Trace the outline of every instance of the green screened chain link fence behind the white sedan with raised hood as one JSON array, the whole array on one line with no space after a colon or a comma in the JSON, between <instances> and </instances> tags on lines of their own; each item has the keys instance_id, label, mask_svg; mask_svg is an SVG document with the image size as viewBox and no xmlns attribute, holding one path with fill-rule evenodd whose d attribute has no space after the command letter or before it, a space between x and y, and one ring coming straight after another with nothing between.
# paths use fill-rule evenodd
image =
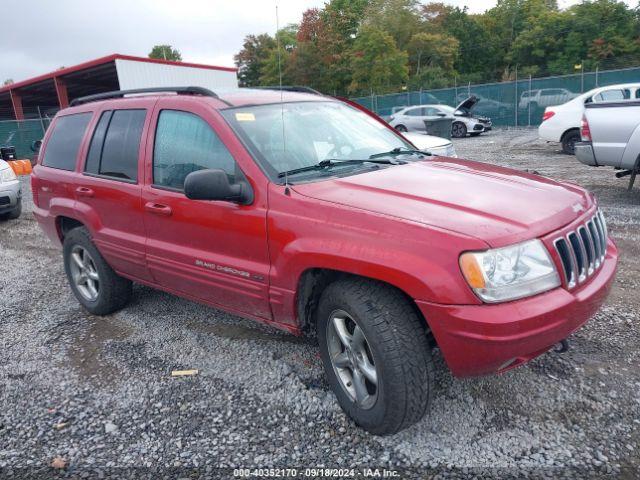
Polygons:
<instances>
[{"instance_id":1,"label":"green screened chain link fence behind the white sedan with raised hood","mask_svg":"<svg viewBox=\"0 0 640 480\"><path fill-rule=\"evenodd\" d=\"M516 76L517 78L517 76ZM474 114L490 117L495 126L537 126L546 107L566 103L596 87L640 82L640 67L581 72L545 78L517 78L516 81L478 85L455 85L451 88L370 95L352 98L360 105L388 117L412 105L459 105L471 95L479 102Z\"/></svg>"}]
</instances>

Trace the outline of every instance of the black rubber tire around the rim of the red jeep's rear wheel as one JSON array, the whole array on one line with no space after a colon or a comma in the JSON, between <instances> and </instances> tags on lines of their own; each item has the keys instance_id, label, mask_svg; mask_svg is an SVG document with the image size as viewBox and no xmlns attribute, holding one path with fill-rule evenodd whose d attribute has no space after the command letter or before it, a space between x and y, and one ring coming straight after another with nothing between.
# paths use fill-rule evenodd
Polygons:
<instances>
[{"instance_id":1,"label":"black rubber tire around the rim of the red jeep's rear wheel","mask_svg":"<svg viewBox=\"0 0 640 480\"><path fill-rule=\"evenodd\" d=\"M71 262L74 249L84 249L99 276L97 298L89 300L81 293L72 273ZM64 237L63 242L64 269L73 294L90 313L108 315L123 308L131 299L132 283L122 278L107 264L98 249L91 241L91 235L85 227L74 228Z\"/></svg>"}]
</instances>

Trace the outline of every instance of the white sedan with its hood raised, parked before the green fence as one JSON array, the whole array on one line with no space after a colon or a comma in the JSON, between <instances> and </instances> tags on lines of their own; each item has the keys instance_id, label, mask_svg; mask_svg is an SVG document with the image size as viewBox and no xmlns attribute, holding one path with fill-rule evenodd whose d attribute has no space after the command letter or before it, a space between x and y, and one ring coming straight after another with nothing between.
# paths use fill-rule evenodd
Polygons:
<instances>
[{"instance_id":1,"label":"white sedan with its hood raised, parked before the green fence","mask_svg":"<svg viewBox=\"0 0 640 480\"><path fill-rule=\"evenodd\" d=\"M428 118L451 118L451 135L455 138L480 135L491 130L491 119L475 117L471 113L478 97L471 96L456 108L448 105L414 105L405 107L389 117L389 125L399 132L424 132L424 121Z\"/></svg>"}]
</instances>

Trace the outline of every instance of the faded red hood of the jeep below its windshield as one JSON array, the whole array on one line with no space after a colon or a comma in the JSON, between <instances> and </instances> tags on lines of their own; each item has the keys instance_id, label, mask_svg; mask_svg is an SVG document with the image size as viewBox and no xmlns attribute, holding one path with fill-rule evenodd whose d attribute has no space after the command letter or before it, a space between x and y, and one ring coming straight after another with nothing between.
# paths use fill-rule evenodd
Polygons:
<instances>
[{"instance_id":1,"label":"faded red hood of the jeep below its windshield","mask_svg":"<svg viewBox=\"0 0 640 480\"><path fill-rule=\"evenodd\" d=\"M593 205L582 188L488 164L436 157L296 185L318 200L455 231L501 247L543 236Z\"/></svg>"}]
</instances>

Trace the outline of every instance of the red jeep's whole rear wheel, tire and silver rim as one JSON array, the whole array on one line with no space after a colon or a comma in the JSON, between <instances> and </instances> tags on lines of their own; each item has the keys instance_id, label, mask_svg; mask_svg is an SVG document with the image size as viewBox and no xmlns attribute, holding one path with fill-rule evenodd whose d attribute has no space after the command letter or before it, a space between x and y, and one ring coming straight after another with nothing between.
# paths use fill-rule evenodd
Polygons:
<instances>
[{"instance_id":1,"label":"red jeep's whole rear wheel, tire and silver rim","mask_svg":"<svg viewBox=\"0 0 640 480\"><path fill-rule=\"evenodd\" d=\"M71 290L89 312L108 315L131 298L131 281L107 264L86 228L74 228L64 238L64 268Z\"/></svg>"}]
</instances>

